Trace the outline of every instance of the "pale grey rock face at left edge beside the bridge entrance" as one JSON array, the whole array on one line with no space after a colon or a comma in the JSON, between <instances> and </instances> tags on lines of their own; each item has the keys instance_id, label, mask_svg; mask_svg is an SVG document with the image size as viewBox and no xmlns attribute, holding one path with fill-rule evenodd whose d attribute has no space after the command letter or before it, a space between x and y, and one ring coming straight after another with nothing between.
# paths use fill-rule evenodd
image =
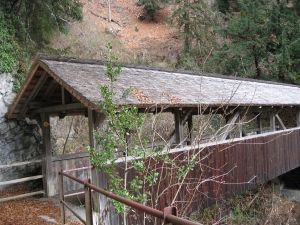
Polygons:
<instances>
[{"instance_id":1,"label":"pale grey rock face at left edge beside the bridge entrance","mask_svg":"<svg viewBox=\"0 0 300 225\"><path fill-rule=\"evenodd\" d=\"M0 73L0 166L41 158L42 152L41 132L35 121L5 118L16 96L12 87L11 74ZM37 174L41 174L40 163L0 169L0 182Z\"/></svg>"}]
</instances>

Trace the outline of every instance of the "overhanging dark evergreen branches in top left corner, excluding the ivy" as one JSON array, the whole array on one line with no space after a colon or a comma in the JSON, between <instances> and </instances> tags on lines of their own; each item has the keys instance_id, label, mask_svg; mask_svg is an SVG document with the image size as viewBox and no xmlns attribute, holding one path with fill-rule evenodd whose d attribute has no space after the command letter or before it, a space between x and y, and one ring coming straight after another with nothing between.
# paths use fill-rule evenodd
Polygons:
<instances>
[{"instance_id":1,"label":"overhanging dark evergreen branches in top left corner, excluding the ivy","mask_svg":"<svg viewBox=\"0 0 300 225\"><path fill-rule=\"evenodd\" d=\"M79 0L0 0L4 19L14 26L19 44L40 49L54 32L67 32L69 20L82 19Z\"/></svg>"}]
</instances>

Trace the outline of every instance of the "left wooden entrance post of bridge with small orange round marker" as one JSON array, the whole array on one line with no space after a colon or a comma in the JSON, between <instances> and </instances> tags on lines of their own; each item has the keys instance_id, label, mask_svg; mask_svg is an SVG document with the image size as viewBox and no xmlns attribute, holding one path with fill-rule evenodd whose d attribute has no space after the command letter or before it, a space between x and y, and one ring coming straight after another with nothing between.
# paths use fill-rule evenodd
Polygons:
<instances>
[{"instance_id":1,"label":"left wooden entrance post of bridge with small orange round marker","mask_svg":"<svg viewBox=\"0 0 300 225\"><path fill-rule=\"evenodd\" d=\"M53 184L53 165L49 113L41 114L41 126L43 132L43 185L45 190L45 196L50 197L55 194L55 190Z\"/></svg>"}]
</instances>

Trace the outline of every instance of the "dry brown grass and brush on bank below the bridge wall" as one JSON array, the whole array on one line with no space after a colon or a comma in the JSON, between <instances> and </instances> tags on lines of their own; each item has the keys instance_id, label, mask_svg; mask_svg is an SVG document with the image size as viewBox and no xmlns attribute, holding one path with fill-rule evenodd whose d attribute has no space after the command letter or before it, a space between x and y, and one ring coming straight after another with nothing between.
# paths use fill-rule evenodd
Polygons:
<instances>
[{"instance_id":1,"label":"dry brown grass and brush on bank below the bridge wall","mask_svg":"<svg viewBox=\"0 0 300 225\"><path fill-rule=\"evenodd\" d=\"M203 224L300 224L300 203L280 197L268 183L205 209L194 217Z\"/></svg>"}]
</instances>

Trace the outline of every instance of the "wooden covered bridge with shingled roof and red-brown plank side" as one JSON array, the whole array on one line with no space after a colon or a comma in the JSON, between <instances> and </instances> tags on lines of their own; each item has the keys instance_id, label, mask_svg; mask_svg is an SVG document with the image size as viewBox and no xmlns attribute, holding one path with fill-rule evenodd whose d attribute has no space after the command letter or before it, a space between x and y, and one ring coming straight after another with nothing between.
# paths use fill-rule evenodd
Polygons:
<instances>
[{"instance_id":1,"label":"wooden covered bridge with shingled roof and red-brown plank side","mask_svg":"<svg viewBox=\"0 0 300 225\"><path fill-rule=\"evenodd\" d=\"M98 104L99 86L109 84L105 71L101 61L40 56L7 113L9 119L29 117L40 124L46 196L57 194L60 168L89 165L88 153L53 157L49 117L88 117L90 145L95 146L93 130L105 120ZM202 163L209 165L205 173L211 178L201 183L204 205L242 193L300 166L298 86L123 66L115 90L121 95L130 86L132 94L120 105L136 106L141 113L173 113L175 129L169 140L173 158L180 154L185 157L190 150L202 151ZM208 138L191 132L196 127L193 117L212 114L224 118L222 129ZM199 170L204 171L201 166ZM192 171L189 176L198 176L198 172ZM70 190L75 188L70 183L67 186ZM165 196L159 201L170 204Z\"/></svg>"}]
</instances>

